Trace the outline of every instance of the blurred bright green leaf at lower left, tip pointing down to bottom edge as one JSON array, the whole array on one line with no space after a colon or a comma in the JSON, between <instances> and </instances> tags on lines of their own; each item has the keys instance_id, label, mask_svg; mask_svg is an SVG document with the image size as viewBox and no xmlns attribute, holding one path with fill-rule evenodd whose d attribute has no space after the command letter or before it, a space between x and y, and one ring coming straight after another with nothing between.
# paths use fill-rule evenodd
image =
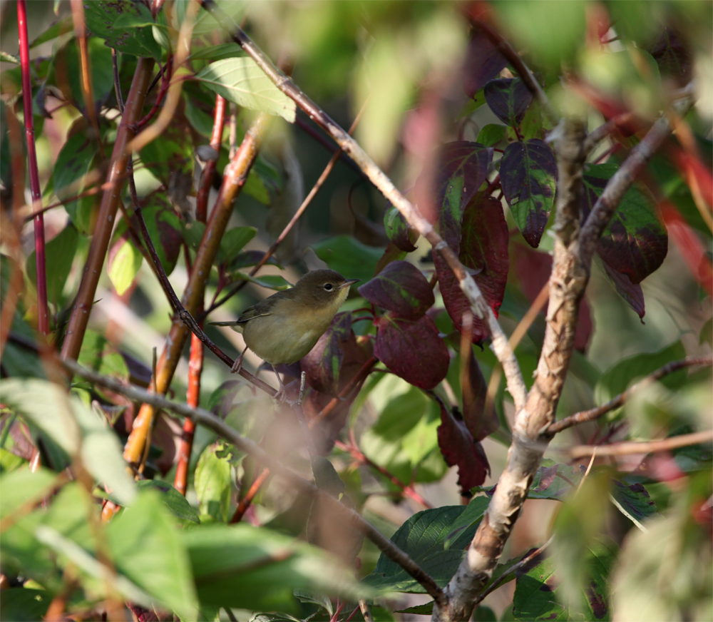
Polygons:
<instances>
[{"instance_id":1,"label":"blurred bright green leaf at lower left, tip pointing down to bottom edge","mask_svg":"<svg viewBox=\"0 0 713 622\"><path fill-rule=\"evenodd\" d=\"M143 491L106 529L116 570L184 620L198 601L185 544L160 495Z\"/></svg>"}]
</instances>

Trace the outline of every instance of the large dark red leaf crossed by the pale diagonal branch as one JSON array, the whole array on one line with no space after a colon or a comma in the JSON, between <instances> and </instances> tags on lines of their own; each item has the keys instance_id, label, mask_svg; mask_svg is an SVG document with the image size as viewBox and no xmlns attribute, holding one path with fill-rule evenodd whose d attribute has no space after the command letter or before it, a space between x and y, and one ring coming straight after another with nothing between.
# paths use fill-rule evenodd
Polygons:
<instances>
[{"instance_id":1,"label":"large dark red leaf crossed by the pale diagonal branch","mask_svg":"<svg viewBox=\"0 0 713 622\"><path fill-rule=\"evenodd\" d=\"M463 214L459 258L471 272L496 315L508 280L508 238L508 225L500 202L481 195L473 198ZM434 255L434 265L446 311L456 328L461 330L463 312L470 310L468 299L463 295L451 268L438 253ZM481 343L487 336L483 321L473 317L473 342Z\"/></svg>"}]
</instances>

